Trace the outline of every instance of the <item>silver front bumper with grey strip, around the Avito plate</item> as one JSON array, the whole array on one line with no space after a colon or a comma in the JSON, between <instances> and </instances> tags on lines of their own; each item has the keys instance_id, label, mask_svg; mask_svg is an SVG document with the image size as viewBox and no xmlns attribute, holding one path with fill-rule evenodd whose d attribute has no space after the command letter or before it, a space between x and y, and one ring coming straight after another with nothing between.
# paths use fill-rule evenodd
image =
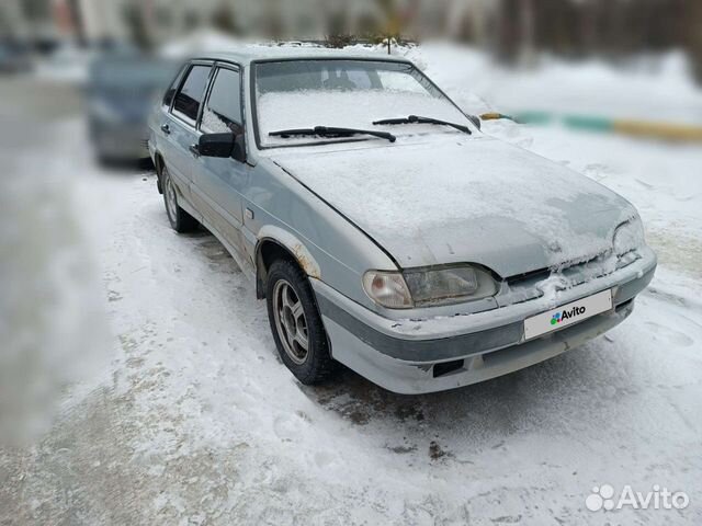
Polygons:
<instances>
[{"instance_id":1,"label":"silver front bumper with grey strip, around the Avito plate","mask_svg":"<svg viewBox=\"0 0 702 526\"><path fill-rule=\"evenodd\" d=\"M621 323L653 279L650 249L624 268L544 297L467 316L390 320L312 279L335 359L385 389L422 393L453 389L529 367ZM524 341L524 319L612 289L613 308Z\"/></svg>"}]
</instances>

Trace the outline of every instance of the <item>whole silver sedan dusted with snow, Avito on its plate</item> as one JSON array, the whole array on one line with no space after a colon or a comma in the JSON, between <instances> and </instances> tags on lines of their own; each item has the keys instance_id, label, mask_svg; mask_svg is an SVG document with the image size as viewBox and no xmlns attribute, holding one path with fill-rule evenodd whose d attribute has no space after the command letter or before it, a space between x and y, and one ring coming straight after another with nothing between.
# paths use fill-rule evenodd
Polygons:
<instances>
[{"instance_id":1,"label":"whole silver sedan dusted with snow, Avito on its plate","mask_svg":"<svg viewBox=\"0 0 702 526\"><path fill-rule=\"evenodd\" d=\"M403 393L503 375L622 322L656 268L630 203L404 59L203 56L149 128L171 226L223 242L304 384L335 361Z\"/></svg>"}]
</instances>

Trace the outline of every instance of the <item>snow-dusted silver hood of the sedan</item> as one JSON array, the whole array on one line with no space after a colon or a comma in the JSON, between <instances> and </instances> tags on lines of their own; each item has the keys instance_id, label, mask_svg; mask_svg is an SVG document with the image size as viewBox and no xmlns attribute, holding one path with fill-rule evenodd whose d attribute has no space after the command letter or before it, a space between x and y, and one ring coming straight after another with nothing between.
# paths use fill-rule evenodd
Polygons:
<instances>
[{"instance_id":1,"label":"snow-dusted silver hood of the sedan","mask_svg":"<svg viewBox=\"0 0 702 526\"><path fill-rule=\"evenodd\" d=\"M595 181L487 136L372 145L272 158L401 267L476 263L510 277L585 262L610 251L614 229L636 216Z\"/></svg>"}]
</instances>

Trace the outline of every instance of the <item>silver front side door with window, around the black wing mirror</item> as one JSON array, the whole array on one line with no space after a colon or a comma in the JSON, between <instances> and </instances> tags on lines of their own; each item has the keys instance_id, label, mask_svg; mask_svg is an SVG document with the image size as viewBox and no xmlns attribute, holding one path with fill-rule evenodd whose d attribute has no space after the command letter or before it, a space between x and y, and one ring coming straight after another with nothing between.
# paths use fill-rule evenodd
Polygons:
<instances>
[{"instance_id":1,"label":"silver front side door with window, around the black wing mirror","mask_svg":"<svg viewBox=\"0 0 702 526\"><path fill-rule=\"evenodd\" d=\"M240 260L245 260L241 193L251 170L245 162L242 115L241 72L236 66L219 64L203 104L200 133L234 134L237 137L235 153L226 159L197 158L193 171L193 201L205 222L224 237L230 249L239 253Z\"/></svg>"}]
</instances>

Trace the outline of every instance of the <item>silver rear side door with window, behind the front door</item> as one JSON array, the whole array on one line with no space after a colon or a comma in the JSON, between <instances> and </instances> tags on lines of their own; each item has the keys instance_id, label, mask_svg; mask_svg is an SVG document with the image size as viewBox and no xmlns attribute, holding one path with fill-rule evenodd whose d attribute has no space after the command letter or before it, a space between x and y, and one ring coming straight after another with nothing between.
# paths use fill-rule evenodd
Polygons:
<instances>
[{"instance_id":1,"label":"silver rear side door with window, behind the front door","mask_svg":"<svg viewBox=\"0 0 702 526\"><path fill-rule=\"evenodd\" d=\"M180 194L192 204L191 183L197 144L196 124L212 73L212 62L193 62L183 75L170 111L163 115L160 133L163 159Z\"/></svg>"}]
</instances>

